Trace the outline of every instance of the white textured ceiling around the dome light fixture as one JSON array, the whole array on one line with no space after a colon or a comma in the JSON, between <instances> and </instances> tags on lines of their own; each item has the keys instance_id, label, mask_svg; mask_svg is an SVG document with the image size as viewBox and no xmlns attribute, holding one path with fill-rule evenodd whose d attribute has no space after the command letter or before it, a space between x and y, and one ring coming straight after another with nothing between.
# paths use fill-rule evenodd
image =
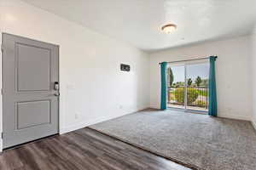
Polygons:
<instances>
[{"instance_id":1,"label":"white textured ceiling around the dome light fixture","mask_svg":"<svg viewBox=\"0 0 256 170\"><path fill-rule=\"evenodd\" d=\"M145 51L248 34L256 0L23 0ZM160 27L177 25L165 34Z\"/></svg>"}]
</instances>

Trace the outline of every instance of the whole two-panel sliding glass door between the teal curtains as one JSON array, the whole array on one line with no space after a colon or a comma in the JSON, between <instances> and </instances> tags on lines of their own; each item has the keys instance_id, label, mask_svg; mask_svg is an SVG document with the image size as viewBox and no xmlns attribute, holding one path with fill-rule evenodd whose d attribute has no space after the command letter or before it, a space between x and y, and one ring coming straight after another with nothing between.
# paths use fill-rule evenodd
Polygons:
<instances>
[{"instance_id":1,"label":"whole two-panel sliding glass door between the teal curtains","mask_svg":"<svg viewBox=\"0 0 256 170\"><path fill-rule=\"evenodd\" d=\"M167 106L208 111L209 63L183 63L167 66Z\"/></svg>"}]
</instances>

